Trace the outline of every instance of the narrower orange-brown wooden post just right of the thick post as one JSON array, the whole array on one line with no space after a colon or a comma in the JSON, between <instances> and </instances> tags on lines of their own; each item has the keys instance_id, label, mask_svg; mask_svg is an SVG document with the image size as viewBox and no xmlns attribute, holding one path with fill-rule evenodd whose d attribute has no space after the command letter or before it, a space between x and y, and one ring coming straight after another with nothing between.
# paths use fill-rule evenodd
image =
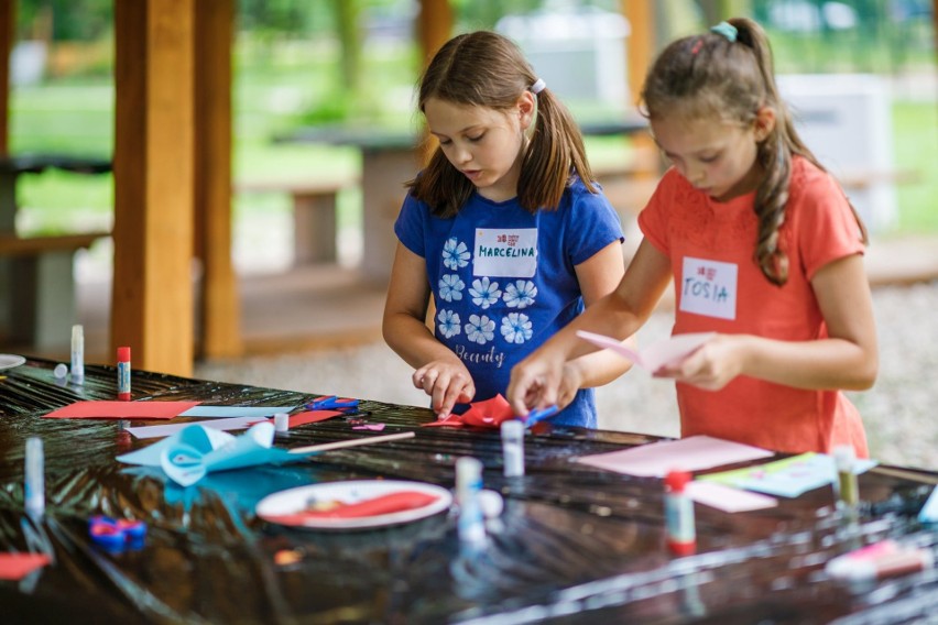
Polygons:
<instances>
[{"instance_id":1,"label":"narrower orange-brown wooden post just right of the thick post","mask_svg":"<svg viewBox=\"0 0 938 625\"><path fill-rule=\"evenodd\" d=\"M203 262L200 355L242 353L231 264L231 45L233 0L198 0L195 13L195 234Z\"/></svg>"}]
</instances>

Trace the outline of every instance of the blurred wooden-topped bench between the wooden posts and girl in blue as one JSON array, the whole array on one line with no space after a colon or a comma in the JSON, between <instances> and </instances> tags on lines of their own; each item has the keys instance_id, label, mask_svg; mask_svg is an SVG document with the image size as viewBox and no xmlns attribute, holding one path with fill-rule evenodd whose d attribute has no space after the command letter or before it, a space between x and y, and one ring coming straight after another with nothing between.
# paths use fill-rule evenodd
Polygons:
<instances>
[{"instance_id":1,"label":"blurred wooden-topped bench between the wooden posts and girl in blue","mask_svg":"<svg viewBox=\"0 0 938 625\"><path fill-rule=\"evenodd\" d=\"M236 193L287 194L293 205L294 263L334 263L338 255L339 191L359 184L359 179L334 180L246 180Z\"/></svg>"}]
</instances>

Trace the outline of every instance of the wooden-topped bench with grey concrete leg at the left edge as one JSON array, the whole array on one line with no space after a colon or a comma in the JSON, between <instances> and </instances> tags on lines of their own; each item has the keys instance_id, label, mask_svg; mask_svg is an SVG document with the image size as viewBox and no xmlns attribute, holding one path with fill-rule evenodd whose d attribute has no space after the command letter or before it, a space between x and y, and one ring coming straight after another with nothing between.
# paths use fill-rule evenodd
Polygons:
<instances>
[{"instance_id":1,"label":"wooden-topped bench with grey concrete leg at the left edge","mask_svg":"<svg viewBox=\"0 0 938 625\"><path fill-rule=\"evenodd\" d=\"M46 237L0 233L0 335L39 350L69 344L78 322L73 261L109 232Z\"/></svg>"}]
</instances>

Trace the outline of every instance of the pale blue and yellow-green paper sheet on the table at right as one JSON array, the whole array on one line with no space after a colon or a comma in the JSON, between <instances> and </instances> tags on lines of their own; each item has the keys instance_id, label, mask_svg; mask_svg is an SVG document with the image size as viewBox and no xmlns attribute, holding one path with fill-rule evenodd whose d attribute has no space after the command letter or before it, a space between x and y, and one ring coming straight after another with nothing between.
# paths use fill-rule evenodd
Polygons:
<instances>
[{"instance_id":1,"label":"pale blue and yellow-green paper sheet on the table at right","mask_svg":"<svg viewBox=\"0 0 938 625\"><path fill-rule=\"evenodd\" d=\"M857 460L853 472L859 475L875 465L874 460ZM701 475L698 479L781 497L797 497L814 489L832 484L837 480L837 468L832 457L809 452L757 467Z\"/></svg>"}]
</instances>

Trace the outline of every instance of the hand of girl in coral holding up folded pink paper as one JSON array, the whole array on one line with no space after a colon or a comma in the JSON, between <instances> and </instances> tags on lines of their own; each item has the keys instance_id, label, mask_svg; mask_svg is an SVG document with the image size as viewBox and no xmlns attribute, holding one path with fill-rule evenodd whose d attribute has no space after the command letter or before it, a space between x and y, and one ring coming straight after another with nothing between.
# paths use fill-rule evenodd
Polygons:
<instances>
[{"instance_id":1,"label":"hand of girl in coral holding up folded pink paper","mask_svg":"<svg viewBox=\"0 0 938 625\"><path fill-rule=\"evenodd\" d=\"M732 335L716 335L684 360L659 368L654 376L719 391L742 373L741 347Z\"/></svg>"}]
</instances>

